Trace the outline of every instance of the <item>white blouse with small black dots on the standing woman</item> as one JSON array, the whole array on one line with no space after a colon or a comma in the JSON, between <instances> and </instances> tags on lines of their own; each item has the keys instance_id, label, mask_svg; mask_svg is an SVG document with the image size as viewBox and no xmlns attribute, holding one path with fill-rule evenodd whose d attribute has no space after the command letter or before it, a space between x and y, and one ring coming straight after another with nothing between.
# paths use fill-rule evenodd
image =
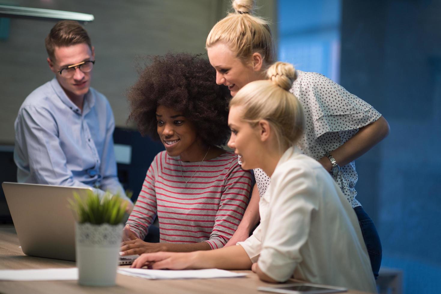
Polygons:
<instances>
[{"instance_id":1,"label":"white blouse with small black dots on the standing woman","mask_svg":"<svg viewBox=\"0 0 441 294\"><path fill-rule=\"evenodd\" d=\"M298 142L304 154L319 160L352 136L359 128L373 123L381 117L372 106L359 97L349 93L322 74L295 71L297 78L290 90L303 106L305 130ZM260 168L254 169L260 197L265 194L269 177ZM336 182L352 207L361 206L355 199L358 180L355 162L342 166Z\"/></svg>"}]
</instances>

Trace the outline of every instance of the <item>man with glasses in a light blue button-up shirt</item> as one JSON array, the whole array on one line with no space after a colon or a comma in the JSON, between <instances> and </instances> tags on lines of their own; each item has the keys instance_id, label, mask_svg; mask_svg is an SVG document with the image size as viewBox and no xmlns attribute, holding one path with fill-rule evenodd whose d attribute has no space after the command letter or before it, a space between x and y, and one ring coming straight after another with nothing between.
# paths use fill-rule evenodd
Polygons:
<instances>
[{"instance_id":1,"label":"man with glasses in a light blue button-up shirt","mask_svg":"<svg viewBox=\"0 0 441 294\"><path fill-rule=\"evenodd\" d=\"M95 52L86 30L57 22L45 44L55 78L30 93L15 120L18 181L119 193L130 210L117 178L112 109L90 87Z\"/></svg>"}]
</instances>

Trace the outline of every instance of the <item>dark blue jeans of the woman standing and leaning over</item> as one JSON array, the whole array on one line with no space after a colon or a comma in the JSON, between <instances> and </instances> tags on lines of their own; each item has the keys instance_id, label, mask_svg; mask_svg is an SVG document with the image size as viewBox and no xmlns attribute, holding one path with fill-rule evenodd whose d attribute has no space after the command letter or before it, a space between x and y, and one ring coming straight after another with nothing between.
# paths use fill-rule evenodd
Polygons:
<instances>
[{"instance_id":1,"label":"dark blue jeans of the woman standing and leaning over","mask_svg":"<svg viewBox=\"0 0 441 294\"><path fill-rule=\"evenodd\" d=\"M357 206L354 210L359 220L361 232L363 233L372 272L374 273L375 279L377 279L382 257L380 236L378 236L374 221L367 215L363 207Z\"/></svg>"}]
</instances>

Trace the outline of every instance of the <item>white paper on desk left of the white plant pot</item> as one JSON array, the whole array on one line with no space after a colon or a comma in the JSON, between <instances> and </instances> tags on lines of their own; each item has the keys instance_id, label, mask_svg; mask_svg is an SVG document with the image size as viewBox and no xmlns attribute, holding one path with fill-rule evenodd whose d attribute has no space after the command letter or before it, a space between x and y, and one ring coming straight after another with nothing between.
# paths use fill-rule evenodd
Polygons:
<instances>
[{"instance_id":1,"label":"white paper on desk left of the white plant pot","mask_svg":"<svg viewBox=\"0 0 441 294\"><path fill-rule=\"evenodd\" d=\"M0 280L7 280L7 281L78 280L78 268L44 268L44 269L0 270Z\"/></svg>"}]
</instances>

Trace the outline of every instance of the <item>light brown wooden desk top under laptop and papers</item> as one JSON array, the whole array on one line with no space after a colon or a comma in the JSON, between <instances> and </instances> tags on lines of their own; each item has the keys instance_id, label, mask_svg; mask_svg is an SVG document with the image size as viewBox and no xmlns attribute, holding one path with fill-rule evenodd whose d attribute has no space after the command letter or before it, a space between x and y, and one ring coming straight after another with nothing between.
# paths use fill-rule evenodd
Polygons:
<instances>
[{"instance_id":1,"label":"light brown wooden desk top under laptop and papers","mask_svg":"<svg viewBox=\"0 0 441 294\"><path fill-rule=\"evenodd\" d=\"M0 269L26 268L70 268L73 261L60 261L50 258L26 256L19 248L19 240L13 226L0 226ZM245 278L234 279L191 279L191 280L147 280L126 275L116 275L115 287L85 287L77 281L38 281L17 282L0 281L0 293L264 293L259 286L273 284L260 281L251 271ZM294 280L292 280L294 281ZM361 294L360 291L348 291L350 294Z\"/></svg>"}]
</instances>

